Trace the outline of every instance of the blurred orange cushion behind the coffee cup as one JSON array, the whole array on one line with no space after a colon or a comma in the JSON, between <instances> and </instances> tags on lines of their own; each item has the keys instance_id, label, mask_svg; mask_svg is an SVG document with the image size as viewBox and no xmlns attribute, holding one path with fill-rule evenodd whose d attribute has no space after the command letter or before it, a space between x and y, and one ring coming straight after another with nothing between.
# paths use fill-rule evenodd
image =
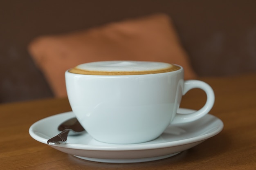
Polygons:
<instances>
[{"instance_id":1,"label":"blurred orange cushion behind the coffee cup","mask_svg":"<svg viewBox=\"0 0 256 170\"><path fill-rule=\"evenodd\" d=\"M85 62L141 60L179 64L185 79L196 77L165 14L114 22L101 27L36 38L29 53L41 68L56 97L65 97L64 73Z\"/></svg>"}]
</instances>

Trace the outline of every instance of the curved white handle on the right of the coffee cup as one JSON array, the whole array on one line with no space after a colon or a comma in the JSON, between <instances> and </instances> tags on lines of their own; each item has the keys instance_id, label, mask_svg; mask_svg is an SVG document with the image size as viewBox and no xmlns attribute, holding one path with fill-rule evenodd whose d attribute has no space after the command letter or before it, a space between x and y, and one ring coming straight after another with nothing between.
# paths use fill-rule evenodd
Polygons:
<instances>
[{"instance_id":1,"label":"curved white handle on the right of the coffee cup","mask_svg":"<svg viewBox=\"0 0 256 170\"><path fill-rule=\"evenodd\" d=\"M207 95L206 103L200 110L197 110L193 113L188 113L188 114L177 113L173 121L171 122L171 124L186 123L186 122L200 119L201 117L209 113L209 111L213 107L215 96L214 96L213 89L211 88L211 86L209 86L209 84L199 80L186 80L184 81L184 89L183 89L182 95L185 95L192 88L200 88L203 91L205 91Z\"/></svg>"}]
</instances>

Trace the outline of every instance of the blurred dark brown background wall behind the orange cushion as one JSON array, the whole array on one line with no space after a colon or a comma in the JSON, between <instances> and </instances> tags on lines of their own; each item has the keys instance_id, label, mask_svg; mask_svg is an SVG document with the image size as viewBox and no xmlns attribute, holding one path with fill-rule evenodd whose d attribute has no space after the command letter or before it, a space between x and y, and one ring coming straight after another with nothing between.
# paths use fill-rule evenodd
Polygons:
<instances>
[{"instance_id":1,"label":"blurred dark brown background wall behind the orange cushion","mask_svg":"<svg viewBox=\"0 0 256 170\"><path fill-rule=\"evenodd\" d=\"M34 38L157 12L172 18L199 76L256 72L255 9L255 0L0 1L0 103L54 97L27 51Z\"/></svg>"}]
</instances>

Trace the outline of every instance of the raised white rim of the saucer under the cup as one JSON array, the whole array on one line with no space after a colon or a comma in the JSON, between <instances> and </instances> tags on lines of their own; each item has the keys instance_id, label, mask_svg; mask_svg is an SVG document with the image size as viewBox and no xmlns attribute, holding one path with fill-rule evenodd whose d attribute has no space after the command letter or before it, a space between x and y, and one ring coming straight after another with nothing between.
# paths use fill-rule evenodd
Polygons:
<instances>
[{"instance_id":1,"label":"raised white rim of the saucer under the cup","mask_svg":"<svg viewBox=\"0 0 256 170\"><path fill-rule=\"evenodd\" d=\"M180 111L194 111L192 109L187 109L187 108L180 108ZM46 138L40 137L38 135L36 135L36 133L34 132L34 127L37 126L40 122L44 122L46 119L51 119L52 117L59 117L59 116L66 116L67 118L69 117L74 117L74 113L72 111L69 112L64 112L64 113L59 113L56 115L52 115L49 117L45 117L43 119L40 119L38 121L36 121L34 124L32 124L29 128L29 134L32 138L34 138L35 140L43 143L43 144L47 144L47 140ZM215 130L212 130L211 132L204 134L204 135L199 135L196 137L191 137L191 138L187 138L187 139L182 139L182 140L177 140L177 141L166 141L165 143L154 143L154 144L146 144L145 143L141 143L141 144L111 144L111 145L106 145L106 146L96 146L96 145L89 145L89 144L73 144L73 143L67 143L67 144L59 144L59 145L49 145L49 146L53 146L53 147L61 147L61 148L68 148L68 149L78 149L78 150L92 150L92 151L123 151L123 150L148 150L148 149L159 149L159 148L170 148L170 147L175 147L175 146L181 146L181 145L186 145L186 144L191 144L191 143L195 143L195 142L200 142L200 141L204 141L206 139L209 139L215 135L217 135L224 127L223 122L216 116L211 115L211 114L207 114L205 116L210 116L215 118L217 121L219 121L218 123L218 128L216 128ZM205 117L204 116L204 117ZM202 119L202 118L201 118ZM175 124L175 126L182 126L182 124ZM170 125L171 126L171 125ZM104 144L104 143L102 143Z\"/></svg>"}]
</instances>

